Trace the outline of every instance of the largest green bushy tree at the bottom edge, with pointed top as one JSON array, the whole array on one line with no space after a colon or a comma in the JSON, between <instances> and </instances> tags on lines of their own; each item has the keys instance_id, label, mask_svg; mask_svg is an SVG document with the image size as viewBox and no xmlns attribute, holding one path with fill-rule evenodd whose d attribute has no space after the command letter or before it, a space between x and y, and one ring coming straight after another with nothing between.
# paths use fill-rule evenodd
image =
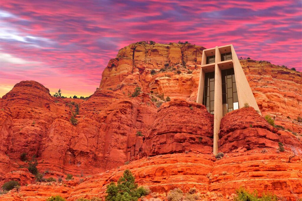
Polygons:
<instances>
[{"instance_id":1,"label":"largest green bushy tree at the bottom edge, with pointed top","mask_svg":"<svg viewBox=\"0 0 302 201\"><path fill-rule=\"evenodd\" d=\"M137 201L138 198L148 193L148 190L143 187L137 187L138 185L135 183L135 178L130 170L125 170L123 176L118 179L117 185L111 182L107 186L105 199L106 201Z\"/></svg>"}]
</instances>

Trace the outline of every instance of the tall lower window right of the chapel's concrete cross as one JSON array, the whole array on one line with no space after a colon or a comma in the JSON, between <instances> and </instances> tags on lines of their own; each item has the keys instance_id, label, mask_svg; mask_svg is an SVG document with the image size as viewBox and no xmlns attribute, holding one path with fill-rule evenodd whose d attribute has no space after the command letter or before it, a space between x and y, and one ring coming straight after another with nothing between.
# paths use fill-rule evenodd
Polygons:
<instances>
[{"instance_id":1,"label":"tall lower window right of the chapel's concrete cross","mask_svg":"<svg viewBox=\"0 0 302 201\"><path fill-rule=\"evenodd\" d=\"M234 68L221 71L221 87L223 115L239 109Z\"/></svg>"}]
</instances>

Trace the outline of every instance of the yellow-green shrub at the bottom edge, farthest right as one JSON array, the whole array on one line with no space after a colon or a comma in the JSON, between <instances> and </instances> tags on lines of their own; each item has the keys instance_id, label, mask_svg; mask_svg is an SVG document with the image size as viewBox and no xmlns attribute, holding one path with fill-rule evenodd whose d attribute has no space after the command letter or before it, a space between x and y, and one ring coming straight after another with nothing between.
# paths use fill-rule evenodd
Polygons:
<instances>
[{"instance_id":1,"label":"yellow-green shrub at the bottom edge, farthest right","mask_svg":"<svg viewBox=\"0 0 302 201\"><path fill-rule=\"evenodd\" d=\"M258 197L257 190L254 190L253 193L249 193L243 187L240 187L236 189L234 201L278 201L278 197L271 193L263 193L261 197Z\"/></svg>"}]
</instances>

